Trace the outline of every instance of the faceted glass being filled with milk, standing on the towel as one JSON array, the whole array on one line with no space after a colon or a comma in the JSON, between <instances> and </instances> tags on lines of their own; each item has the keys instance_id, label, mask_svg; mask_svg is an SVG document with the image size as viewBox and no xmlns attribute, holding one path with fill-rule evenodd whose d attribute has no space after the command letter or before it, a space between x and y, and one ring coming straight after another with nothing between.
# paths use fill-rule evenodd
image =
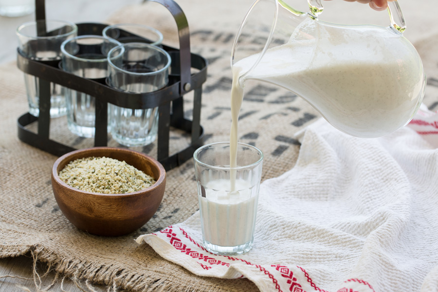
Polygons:
<instances>
[{"instance_id":1,"label":"faceted glass being filled with milk, standing on the towel","mask_svg":"<svg viewBox=\"0 0 438 292\"><path fill-rule=\"evenodd\" d=\"M235 151L233 167L228 142L202 146L193 154L203 245L218 255L246 253L254 240L263 153L243 143Z\"/></svg>"}]
</instances>

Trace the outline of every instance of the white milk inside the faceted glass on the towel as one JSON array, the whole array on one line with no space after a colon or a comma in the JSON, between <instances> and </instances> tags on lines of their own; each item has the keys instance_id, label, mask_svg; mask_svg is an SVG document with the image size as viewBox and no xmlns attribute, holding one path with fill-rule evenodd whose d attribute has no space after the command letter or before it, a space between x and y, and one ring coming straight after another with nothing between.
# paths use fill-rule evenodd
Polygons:
<instances>
[{"instance_id":1,"label":"white milk inside the faceted glass on the towel","mask_svg":"<svg viewBox=\"0 0 438 292\"><path fill-rule=\"evenodd\" d=\"M252 240L258 194L251 184L236 180L238 192L229 192L230 181L207 183L205 197L199 196L204 239L219 246L237 246Z\"/></svg>"}]
</instances>

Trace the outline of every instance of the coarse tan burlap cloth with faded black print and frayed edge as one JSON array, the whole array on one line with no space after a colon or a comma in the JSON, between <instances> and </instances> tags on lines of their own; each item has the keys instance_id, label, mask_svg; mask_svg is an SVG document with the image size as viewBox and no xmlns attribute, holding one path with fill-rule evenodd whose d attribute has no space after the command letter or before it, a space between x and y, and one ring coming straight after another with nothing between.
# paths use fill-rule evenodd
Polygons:
<instances>
[{"instance_id":1,"label":"coarse tan burlap cloth with faded black print and frayed edge","mask_svg":"<svg viewBox=\"0 0 438 292\"><path fill-rule=\"evenodd\" d=\"M201 112L201 125L208 143L229 139L229 56L238 24L249 5L236 1L238 16L231 17L234 14L229 6L235 1L214 2L218 3L180 1L189 20L191 51L210 62ZM174 20L159 4L127 7L109 21L117 22L153 25L163 32L165 44L177 43ZM424 103L436 110L438 35L416 46L429 81ZM17 118L27 111L27 102L23 76L15 63L0 67L0 88L0 257L32 251L38 260L51 263L56 272L94 283L115 284L130 291L257 290L247 279L196 276L164 260L148 245L134 241L141 234L182 222L198 210L191 160L168 171L161 207L140 230L124 237L98 237L78 231L59 211L52 193L50 172L57 157L18 140ZM239 139L263 150L262 180L276 177L295 164L299 143L293 134L316 121L319 114L303 99L272 85L249 82L246 92L240 113ZM188 94L184 102L187 115L190 115L190 105ZM66 132L65 128L59 128L62 122L54 125L51 135L62 140L60 133ZM185 143L184 139L179 140L172 139L172 147ZM86 145L81 143L83 141L77 142L76 146ZM156 145L145 150L153 156L155 148Z\"/></svg>"}]
</instances>

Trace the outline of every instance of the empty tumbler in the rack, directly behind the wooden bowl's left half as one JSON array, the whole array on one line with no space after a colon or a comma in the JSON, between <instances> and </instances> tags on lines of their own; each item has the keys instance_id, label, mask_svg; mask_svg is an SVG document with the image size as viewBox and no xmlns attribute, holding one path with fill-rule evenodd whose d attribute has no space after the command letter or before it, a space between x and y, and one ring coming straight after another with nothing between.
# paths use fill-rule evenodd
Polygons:
<instances>
[{"instance_id":1,"label":"empty tumbler in the rack, directly behind the wooden bowl's left half","mask_svg":"<svg viewBox=\"0 0 438 292\"><path fill-rule=\"evenodd\" d=\"M108 77L108 53L120 43L101 36L79 36L61 45L62 70L84 78ZM78 136L92 138L95 132L95 97L67 89L67 126Z\"/></svg>"}]
</instances>

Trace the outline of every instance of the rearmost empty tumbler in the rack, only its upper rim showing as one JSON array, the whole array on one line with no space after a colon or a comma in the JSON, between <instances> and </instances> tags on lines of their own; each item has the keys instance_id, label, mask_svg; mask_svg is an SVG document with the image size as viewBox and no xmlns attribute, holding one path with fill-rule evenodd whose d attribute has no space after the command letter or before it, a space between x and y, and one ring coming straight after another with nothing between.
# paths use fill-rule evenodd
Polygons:
<instances>
[{"instance_id":1,"label":"rearmost empty tumbler in the rack, only its upper rim showing","mask_svg":"<svg viewBox=\"0 0 438 292\"><path fill-rule=\"evenodd\" d=\"M150 26L135 23L119 23L104 28L102 35L116 39L121 43L146 42L160 46L163 42L163 34Z\"/></svg>"}]
</instances>

